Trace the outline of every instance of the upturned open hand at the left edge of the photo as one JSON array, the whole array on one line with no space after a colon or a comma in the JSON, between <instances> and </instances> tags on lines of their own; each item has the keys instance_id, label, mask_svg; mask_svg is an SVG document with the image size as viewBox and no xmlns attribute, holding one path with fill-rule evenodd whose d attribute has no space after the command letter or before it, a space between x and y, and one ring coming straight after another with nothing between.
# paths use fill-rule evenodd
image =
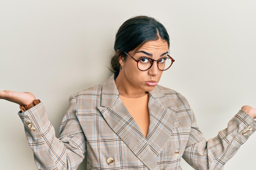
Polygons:
<instances>
[{"instance_id":1,"label":"upturned open hand at the left edge of the photo","mask_svg":"<svg viewBox=\"0 0 256 170\"><path fill-rule=\"evenodd\" d=\"M36 99L33 93L30 92L15 92L15 91L0 91L0 99L5 99L19 105L30 104Z\"/></svg>"}]
</instances>

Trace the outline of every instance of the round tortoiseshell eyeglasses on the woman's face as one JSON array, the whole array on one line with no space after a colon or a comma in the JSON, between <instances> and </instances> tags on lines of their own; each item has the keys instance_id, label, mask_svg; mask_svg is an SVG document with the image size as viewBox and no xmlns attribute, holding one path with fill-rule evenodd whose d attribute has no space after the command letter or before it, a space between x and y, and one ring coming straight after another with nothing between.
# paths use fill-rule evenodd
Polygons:
<instances>
[{"instance_id":1,"label":"round tortoiseshell eyeglasses on the woman's face","mask_svg":"<svg viewBox=\"0 0 256 170\"><path fill-rule=\"evenodd\" d=\"M124 52L126 53L126 52ZM126 55L129 55L126 53ZM159 60L154 60L149 57L141 57L140 59L136 60L134 57L129 55L132 60L137 62L137 67L139 68L140 71L147 71L149 70L154 62L157 62L157 68L161 71L166 71L168 68L171 67L173 62L175 61L170 55L167 54L167 57L160 58Z\"/></svg>"}]
</instances>

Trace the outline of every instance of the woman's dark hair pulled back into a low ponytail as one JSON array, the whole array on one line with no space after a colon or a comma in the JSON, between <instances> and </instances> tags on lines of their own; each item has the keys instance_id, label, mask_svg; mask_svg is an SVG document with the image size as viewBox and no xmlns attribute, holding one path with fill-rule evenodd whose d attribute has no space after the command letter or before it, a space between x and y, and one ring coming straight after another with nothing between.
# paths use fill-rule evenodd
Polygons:
<instances>
[{"instance_id":1,"label":"woman's dark hair pulled back into a low ponytail","mask_svg":"<svg viewBox=\"0 0 256 170\"><path fill-rule=\"evenodd\" d=\"M139 15L126 20L118 29L115 37L115 55L111 59L112 69L110 68L110 71L115 73L115 77L117 77L121 67L118 59L124 57L126 60L127 57L124 52L136 48L136 53L146 42L159 38L165 40L170 47L169 35L165 27L155 18ZM117 53L118 49L119 52Z\"/></svg>"}]
</instances>

